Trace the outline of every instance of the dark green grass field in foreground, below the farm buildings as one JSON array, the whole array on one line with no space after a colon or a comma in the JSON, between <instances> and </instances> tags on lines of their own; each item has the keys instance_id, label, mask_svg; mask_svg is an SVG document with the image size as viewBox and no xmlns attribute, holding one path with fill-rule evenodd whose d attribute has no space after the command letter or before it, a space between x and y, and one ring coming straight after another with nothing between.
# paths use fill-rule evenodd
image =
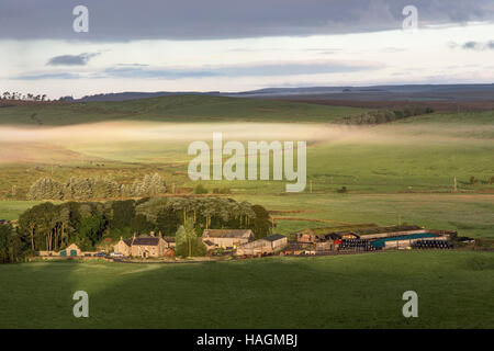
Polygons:
<instances>
[{"instance_id":1,"label":"dark green grass field in foreground, below the farm buildings","mask_svg":"<svg viewBox=\"0 0 494 351\"><path fill-rule=\"evenodd\" d=\"M0 328L493 328L494 256L390 252L221 263L0 267ZM89 294L89 318L72 294ZM402 294L418 294L404 318Z\"/></svg>"}]
</instances>

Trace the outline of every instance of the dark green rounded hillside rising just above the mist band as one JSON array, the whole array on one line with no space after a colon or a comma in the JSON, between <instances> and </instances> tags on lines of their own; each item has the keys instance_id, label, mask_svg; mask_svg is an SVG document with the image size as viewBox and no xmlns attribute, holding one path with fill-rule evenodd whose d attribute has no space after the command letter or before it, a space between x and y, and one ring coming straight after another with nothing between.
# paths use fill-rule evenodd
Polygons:
<instances>
[{"instance_id":1,"label":"dark green rounded hillside rising just above the mist band","mask_svg":"<svg viewBox=\"0 0 494 351\"><path fill-rule=\"evenodd\" d=\"M108 121L329 122L367 110L290 101L171 95L119 102L5 104L0 124L74 125Z\"/></svg>"}]
</instances>

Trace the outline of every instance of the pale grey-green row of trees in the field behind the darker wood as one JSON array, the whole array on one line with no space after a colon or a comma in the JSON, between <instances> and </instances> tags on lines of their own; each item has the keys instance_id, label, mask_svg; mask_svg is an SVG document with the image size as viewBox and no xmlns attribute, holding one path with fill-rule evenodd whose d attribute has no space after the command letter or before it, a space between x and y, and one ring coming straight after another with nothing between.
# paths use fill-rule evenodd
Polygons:
<instances>
[{"instance_id":1,"label":"pale grey-green row of trees in the field behind the darker wood","mask_svg":"<svg viewBox=\"0 0 494 351\"><path fill-rule=\"evenodd\" d=\"M146 174L132 184L119 184L111 178L76 178L60 183L50 178L38 179L27 192L29 200L77 200L139 197L165 193L165 181L158 174Z\"/></svg>"}]
</instances>

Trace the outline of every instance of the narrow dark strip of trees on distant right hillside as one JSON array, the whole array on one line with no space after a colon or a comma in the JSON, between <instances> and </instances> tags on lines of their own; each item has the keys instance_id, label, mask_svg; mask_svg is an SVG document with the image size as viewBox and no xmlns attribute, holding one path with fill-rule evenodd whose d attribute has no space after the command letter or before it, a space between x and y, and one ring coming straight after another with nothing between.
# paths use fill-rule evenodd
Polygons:
<instances>
[{"instance_id":1,"label":"narrow dark strip of trees on distant right hillside","mask_svg":"<svg viewBox=\"0 0 494 351\"><path fill-rule=\"evenodd\" d=\"M357 124L357 125L382 124L397 120L403 120L411 116L428 114L433 112L434 112L433 107L422 107L422 106L406 107L404 110L395 110L395 111L390 110L372 111L357 116L344 117L343 120L338 121L338 123Z\"/></svg>"}]
</instances>

